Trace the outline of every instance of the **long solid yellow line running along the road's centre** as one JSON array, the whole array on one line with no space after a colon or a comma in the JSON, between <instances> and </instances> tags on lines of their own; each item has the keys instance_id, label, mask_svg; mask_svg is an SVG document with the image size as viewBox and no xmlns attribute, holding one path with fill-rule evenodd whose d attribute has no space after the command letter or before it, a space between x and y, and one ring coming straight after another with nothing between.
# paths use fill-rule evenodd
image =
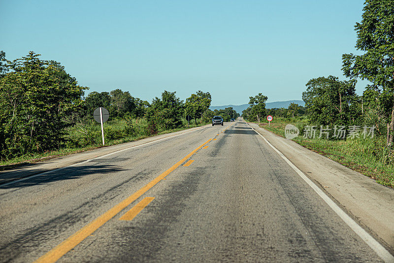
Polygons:
<instances>
[{"instance_id":1,"label":"long solid yellow line running along the road's centre","mask_svg":"<svg viewBox=\"0 0 394 263\"><path fill-rule=\"evenodd\" d=\"M204 147L205 144L209 143L212 139L207 140L200 146L198 146L193 152L185 156L182 160L180 160L178 163L174 164L171 168L166 170L164 173L150 181L147 185L139 189L137 192L132 194L130 197L127 197L111 209L109 209L107 212L96 218L94 221L83 227L82 229L78 230L71 236L69 236L65 241L57 245L55 248L53 248L51 251L46 253L45 255L41 256L39 259L37 259L35 262L36 263L49 263L49 262L56 262L59 260L61 257L63 257L68 251L73 249L76 245L78 245L82 240L84 240L86 237L88 237L90 234L92 234L94 231L99 229L102 225L104 225L108 220L113 218L116 214L118 214L120 211L125 209L129 204L131 204L133 201L135 201L138 197L142 196L146 191L151 189L153 186L155 186L158 182L160 182L162 179L164 179L165 176L167 176L169 173L171 173L173 170L175 170L179 165L183 164L187 159L189 159L192 155L194 155L199 149Z\"/></svg>"}]
</instances>

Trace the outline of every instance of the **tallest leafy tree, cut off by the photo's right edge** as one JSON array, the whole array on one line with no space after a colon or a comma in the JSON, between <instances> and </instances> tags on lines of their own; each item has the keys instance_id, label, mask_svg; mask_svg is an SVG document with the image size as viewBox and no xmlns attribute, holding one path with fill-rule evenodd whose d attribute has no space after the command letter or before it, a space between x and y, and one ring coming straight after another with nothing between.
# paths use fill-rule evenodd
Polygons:
<instances>
[{"instance_id":1,"label":"tallest leafy tree, cut off by the photo's right edge","mask_svg":"<svg viewBox=\"0 0 394 263\"><path fill-rule=\"evenodd\" d=\"M384 112L387 145L394 132L394 1L366 0L361 23L356 23L356 48L363 55L343 54L344 75L370 81L378 91L377 106Z\"/></svg>"}]
</instances>

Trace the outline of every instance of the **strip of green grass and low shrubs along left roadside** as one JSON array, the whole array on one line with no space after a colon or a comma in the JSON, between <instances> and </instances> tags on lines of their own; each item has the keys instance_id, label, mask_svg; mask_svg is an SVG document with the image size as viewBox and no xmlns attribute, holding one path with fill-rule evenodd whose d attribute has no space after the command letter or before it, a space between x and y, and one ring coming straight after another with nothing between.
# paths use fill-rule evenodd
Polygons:
<instances>
[{"instance_id":1,"label":"strip of green grass and low shrubs along left roadside","mask_svg":"<svg viewBox=\"0 0 394 263\"><path fill-rule=\"evenodd\" d=\"M205 123L190 124L184 119L183 126L177 129L158 131L157 134L147 132L147 122L143 119L132 119L132 126L126 120L111 120L104 124L105 146L102 145L101 127L98 123L92 122L84 126L74 126L68 129L65 147L47 151L44 153L26 154L11 160L0 161L0 171L13 169L31 163L45 161L56 157L66 156L74 153L99 149L106 146L116 145L125 142L136 141L147 137L161 135L170 132L178 132L205 125ZM130 129L130 127L132 127ZM128 129L129 128L129 129Z\"/></svg>"}]
</instances>

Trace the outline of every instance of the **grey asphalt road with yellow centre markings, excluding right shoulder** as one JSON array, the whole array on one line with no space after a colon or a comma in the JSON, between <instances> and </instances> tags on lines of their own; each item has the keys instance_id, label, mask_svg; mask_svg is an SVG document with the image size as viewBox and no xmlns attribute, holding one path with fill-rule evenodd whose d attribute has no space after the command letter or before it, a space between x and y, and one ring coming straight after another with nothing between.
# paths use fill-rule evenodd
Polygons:
<instances>
[{"instance_id":1,"label":"grey asphalt road with yellow centre markings, excluding right shoulder","mask_svg":"<svg viewBox=\"0 0 394 263\"><path fill-rule=\"evenodd\" d=\"M243 121L0 186L0 261L36 260L382 262Z\"/></svg>"}]
</instances>

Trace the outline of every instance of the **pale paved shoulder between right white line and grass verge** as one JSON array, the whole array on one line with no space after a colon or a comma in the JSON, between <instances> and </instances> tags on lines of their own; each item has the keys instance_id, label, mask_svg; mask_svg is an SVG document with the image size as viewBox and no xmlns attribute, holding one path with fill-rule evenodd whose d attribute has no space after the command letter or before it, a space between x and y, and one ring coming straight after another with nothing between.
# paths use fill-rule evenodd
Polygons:
<instances>
[{"instance_id":1,"label":"pale paved shoulder between right white line and grass verge","mask_svg":"<svg viewBox=\"0 0 394 263\"><path fill-rule=\"evenodd\" d=\"M250 123L364 229L394 252L394 191L375 180Z\"/></svg>"}]
</instances>

